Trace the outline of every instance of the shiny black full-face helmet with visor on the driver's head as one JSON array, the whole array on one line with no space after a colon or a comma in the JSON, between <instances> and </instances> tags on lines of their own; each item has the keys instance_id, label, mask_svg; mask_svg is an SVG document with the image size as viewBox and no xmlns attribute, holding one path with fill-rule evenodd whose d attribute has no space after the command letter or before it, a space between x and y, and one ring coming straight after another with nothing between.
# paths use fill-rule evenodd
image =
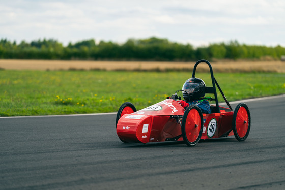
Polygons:
<instances>
[{"instance_id":1,"label":"shiny black full-face helmet with visor on the driver's head","mask_svg":"<svg viewBox=\"0 0 285 190\"><path fill-rule=\"evenodd\" d=\"M183 98L187 102L192 102L198 98L205 96L205 82L200 78L189 78L184 83L183 90Z\"/></svg>"}]
</instances>

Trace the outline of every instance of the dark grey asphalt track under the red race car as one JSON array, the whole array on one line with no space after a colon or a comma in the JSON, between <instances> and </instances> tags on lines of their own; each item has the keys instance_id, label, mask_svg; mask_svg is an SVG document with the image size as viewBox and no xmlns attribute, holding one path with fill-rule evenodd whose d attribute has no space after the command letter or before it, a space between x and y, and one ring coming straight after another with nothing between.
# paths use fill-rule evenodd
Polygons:
<instances>
[{"instance_id":1,"label":"dark grey asphalt track under the red race car","mask_svg":"<svg viewBox=\"0 0 285 190\"><path fill-rule=\"evenodd\" d=\"M0 118L0 189L285 189L285 96L246 104L244 142L194 147L124 144L116 114Z\"/></svg>"}]
</instances>

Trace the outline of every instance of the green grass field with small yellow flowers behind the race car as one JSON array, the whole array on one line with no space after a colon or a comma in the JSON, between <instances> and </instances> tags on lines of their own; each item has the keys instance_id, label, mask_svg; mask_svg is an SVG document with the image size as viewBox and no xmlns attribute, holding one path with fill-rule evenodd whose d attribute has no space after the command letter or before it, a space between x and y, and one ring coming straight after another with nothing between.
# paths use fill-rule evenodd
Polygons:
<instances>
[{"instance_id":1,"label":"green grass field with small yellow flowers behind the race car","mask_svg":"<svg viewBox=\"0 0 285 190\"><path fill-rule=\"evenodd\" d=\"M191 75L0 70L0 116L117 112L124 102L132 102L139 110L181 89ZM196 73L196 77L211 86L209 73ZM285 93L282 73L216 73L215 78L229 101Z\"/></svg>"}]
</instances>

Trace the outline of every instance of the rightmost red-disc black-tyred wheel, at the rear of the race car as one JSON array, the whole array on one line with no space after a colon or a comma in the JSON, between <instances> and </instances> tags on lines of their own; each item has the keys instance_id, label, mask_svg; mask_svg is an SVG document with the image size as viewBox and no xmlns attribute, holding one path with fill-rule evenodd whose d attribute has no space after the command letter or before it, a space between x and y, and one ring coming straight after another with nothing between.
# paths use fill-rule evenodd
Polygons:
<instances>
[{"instance_id":1,"label":"rightmost red-disc black-tyred wheel, at the rear of the race car","mask_svg":"<svg viewBox=\"0 0 285 190\"><path fill-rule=\"evenodd\" d=\"M237 105L233 116L233 132L238 141L244 141L250 130L250 113L245 103Z\"/></svg>"}]
</instances>

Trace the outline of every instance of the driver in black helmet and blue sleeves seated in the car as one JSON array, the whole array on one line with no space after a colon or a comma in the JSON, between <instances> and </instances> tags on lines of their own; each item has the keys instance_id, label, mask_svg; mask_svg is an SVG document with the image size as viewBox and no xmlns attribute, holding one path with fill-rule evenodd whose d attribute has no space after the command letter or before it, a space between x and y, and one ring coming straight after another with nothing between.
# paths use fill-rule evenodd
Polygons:
<instances>
[{"instance_id":1,"label":"driver in black helmet and blue sleeves seated in the car","mask_svg":"<svg viewBox=\"0 0 285 190\"><path fill-rule=\"evenodd\" d=\"M202 79L190 78L186 80L182 87L184 100L179 100L177 102L184 109L191 104L195 104L200 107L202 113L211 113L209 102L202 98L205 96L205 88L206 84Z\"/></svg>"}]
</instances>

